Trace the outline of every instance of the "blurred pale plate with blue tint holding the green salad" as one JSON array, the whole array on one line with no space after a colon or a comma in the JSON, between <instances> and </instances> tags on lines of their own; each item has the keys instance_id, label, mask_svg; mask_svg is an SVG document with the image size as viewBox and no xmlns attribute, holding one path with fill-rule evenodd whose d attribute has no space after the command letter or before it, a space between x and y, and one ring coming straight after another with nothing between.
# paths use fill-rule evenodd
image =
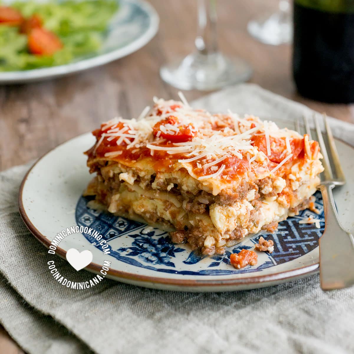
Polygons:
<instances>
[{"instance_id":1,"label":"blurred pale plate with blue tint holding the green salad","mask_svg":"<svg viewBox=\"0 0 354 354\"><path fill-rule=\"evenodd\" d=\"M5 1L11 3L12 0ZM117 0L119 9L110 21L98 53L65 65L33 70L0 72L0 84L39 81L107 64L125 57L147 44L159 28L159 16L142 0Z\"/></svg>"}]
</instances>

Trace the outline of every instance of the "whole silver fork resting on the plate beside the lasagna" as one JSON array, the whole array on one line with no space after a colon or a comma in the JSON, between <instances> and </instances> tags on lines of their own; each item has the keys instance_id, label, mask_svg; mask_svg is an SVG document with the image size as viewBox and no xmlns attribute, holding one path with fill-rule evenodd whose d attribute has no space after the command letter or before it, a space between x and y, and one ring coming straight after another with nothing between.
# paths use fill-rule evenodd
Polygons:
<instances>
[{"instance_id":1,"label":"whole silver fork resting on the plate beside the lasagna","mask_svg":"<svg viewBox=\"0 0 354 354\"><path fill-rule=\"evenodd\" d=\"M311 139L311 131L308 119L303 116L306 133ZM322 136L318 116L314 115L316 134L323 155L321 184L318 189L322 193L325 213L325 230L319 240L320 244L320 279L323 290L341 289L354 284L354 238L353 235L343 229L338 219L338 213L333 199L332 189L337 185L346 183L341 162L332 131L326 116L324 116L329 151ZM297 121L297 130L301 132ZM330 156L330 157L329 157ZM330 161L334 166L334 174Z\"/></svg>"}]
</instances>

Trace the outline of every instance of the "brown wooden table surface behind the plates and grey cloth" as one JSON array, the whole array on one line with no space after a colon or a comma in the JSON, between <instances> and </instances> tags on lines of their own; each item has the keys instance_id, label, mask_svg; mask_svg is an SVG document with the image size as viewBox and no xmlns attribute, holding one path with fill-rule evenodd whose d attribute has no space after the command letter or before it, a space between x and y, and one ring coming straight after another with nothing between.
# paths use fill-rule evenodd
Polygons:
<instances>
[{"instance_id":1,"label":"brown wooden table surface behind the plates and grey cloth","mask_svg":"<svg viewBox=\"0 0 354 354\"><path fill-rule=\"evenodd\" d=\"M137 116L153 96L177 98L159 67L193 50L196 1L151 0L160 16L155 38L132 55L103 67L29 85L0 86L0 170L38 158L56 145L116 115ZM324 104L297 95L291 46L264 45L249 36L249 19L274 11L278 0L218 2L221 50L253 67L250 82L335 118L354 123L354 105ZM189 91L189 101L205 95ZM0 328L0 354L22 353Z\"/></svg>"}]
</instances>

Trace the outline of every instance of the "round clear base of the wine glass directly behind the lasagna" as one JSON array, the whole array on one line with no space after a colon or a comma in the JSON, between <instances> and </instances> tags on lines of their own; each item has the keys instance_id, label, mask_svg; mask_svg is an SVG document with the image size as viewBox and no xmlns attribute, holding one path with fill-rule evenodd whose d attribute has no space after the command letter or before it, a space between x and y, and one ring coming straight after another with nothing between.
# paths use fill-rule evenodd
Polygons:
<instances>
[{"instance_id":1,"label":"round clear base of the wine glass directly behind the lasagna","mask_svg":"<svg viewBox=\"0 0 354 354\"><path fill-rule=\"evenodd\" d=\"M252 69L240 58L193 53L160 68L162 80L181 90L212 91L250 79Z\"/></svg>"}]
</instances>

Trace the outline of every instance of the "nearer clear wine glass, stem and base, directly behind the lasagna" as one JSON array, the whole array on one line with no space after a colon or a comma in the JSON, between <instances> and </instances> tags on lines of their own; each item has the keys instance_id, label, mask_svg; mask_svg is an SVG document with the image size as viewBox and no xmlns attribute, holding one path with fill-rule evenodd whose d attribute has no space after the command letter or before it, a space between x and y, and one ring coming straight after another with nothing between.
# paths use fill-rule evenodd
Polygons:
<instances>
[{"instance_id":1,"label":"nearer clear wine glass, stem and base, directly behind the lasagna","mask_svg":"<svg viewBox=\"0 0 354 354\"><path fill-rule=\"evenodd\" d=\"M247 81L251 67L240 58L227 58L218 50L216 0L198 0L196 50L160 68L161 78L182 90L215 90Z\"/></svg>"}]
</instances>

